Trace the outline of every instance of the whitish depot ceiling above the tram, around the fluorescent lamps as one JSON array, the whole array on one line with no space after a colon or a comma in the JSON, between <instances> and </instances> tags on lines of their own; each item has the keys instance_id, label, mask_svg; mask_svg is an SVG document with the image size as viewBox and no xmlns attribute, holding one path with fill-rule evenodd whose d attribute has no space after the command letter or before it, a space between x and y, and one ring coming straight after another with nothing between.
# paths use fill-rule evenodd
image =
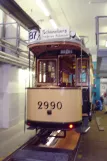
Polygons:
<instances>
[{"instance_id":1,"label":"whitish depot ceiling above the tram, around the fluorescent lamps","mask_svg":"<svg viewBox=\"0 0 107 161\"><path fill-rule=\"evenodd\" d=\"M87 47L96 61L95 17L107 16L107 0L42 0L51 17L60 27L70 27L80 36L86 36ZM52 28L49 17L37 6L36 0L15 0L41 28ZM107 30L107 18L101 20L100 31ZM107 35L101 36L105 46Z\"/></svg>"}]
</instances>

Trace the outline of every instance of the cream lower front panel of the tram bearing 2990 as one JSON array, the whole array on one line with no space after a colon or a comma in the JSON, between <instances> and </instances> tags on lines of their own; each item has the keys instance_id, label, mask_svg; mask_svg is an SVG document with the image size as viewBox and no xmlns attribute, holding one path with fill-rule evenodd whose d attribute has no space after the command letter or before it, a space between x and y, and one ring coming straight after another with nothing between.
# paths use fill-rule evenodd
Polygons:
<instances>
[{"instance_id":1,"label":"cream lower front panel of the tram bearing 2990","mask_svg":"<svg viewBox=\"0 0 107 161\"><path fill-rule=\"evenodd\" d=\"M81 89L28 89L27 97L27 118L35 127L67 129L82 120Z\"/></svg>"}]
</instances>

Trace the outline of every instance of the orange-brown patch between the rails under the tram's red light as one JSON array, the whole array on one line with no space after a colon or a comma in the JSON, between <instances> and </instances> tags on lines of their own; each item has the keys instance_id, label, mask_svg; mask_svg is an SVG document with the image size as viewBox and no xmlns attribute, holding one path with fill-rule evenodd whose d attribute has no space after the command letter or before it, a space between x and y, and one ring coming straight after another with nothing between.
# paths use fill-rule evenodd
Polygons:
<instances>
[{"instance_id":1,"label":"orange-brown patch between the rails under the tram's red light","mask_svg":"<svg viewBox=\"0 0 107 161\"><path fill-rule=\"evenodd\" d=\"M67 131L66 137L60 139L55 147L74 150L77 146L79 138L80 134L76 131Z\"/></svg>"}]
</instances>

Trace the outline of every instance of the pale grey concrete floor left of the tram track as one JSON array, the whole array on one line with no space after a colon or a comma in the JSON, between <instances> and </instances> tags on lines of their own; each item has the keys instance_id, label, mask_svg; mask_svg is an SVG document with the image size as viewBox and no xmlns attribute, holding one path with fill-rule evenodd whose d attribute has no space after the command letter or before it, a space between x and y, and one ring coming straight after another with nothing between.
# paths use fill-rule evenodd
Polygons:
<instances>
[{"instance_id":1,"label":"pale grey concrete floor left of the tram track","mask_svg":"<svg viewBox=\"0 0 107 161\"><path fill-rule=\"evenodd\" d=\"M23 122L9 129L0 129L0 161L34 135L35 131L26 130L24 133Z\"/></svg>"}]
</instances>

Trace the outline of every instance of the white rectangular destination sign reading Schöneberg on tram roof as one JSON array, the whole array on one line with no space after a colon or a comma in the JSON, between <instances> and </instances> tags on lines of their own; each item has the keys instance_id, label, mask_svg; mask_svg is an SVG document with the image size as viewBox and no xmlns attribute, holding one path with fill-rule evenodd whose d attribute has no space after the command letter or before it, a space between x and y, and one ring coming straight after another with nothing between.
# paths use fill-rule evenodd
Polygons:
<instances>
[{"instance_id":1,"label":"white rectangular destination sign reading Sch\u00f6neberg on tram roof","mask_svg":"<svg viewBox=\"0 0 107 161\"><path fill-rule=\"evenodd\" d=\"M55 39L55 38L69 38L70 32L67 28L58 28L58 29L41 29L41 39Z\"/></svg>"}]
</instances>

